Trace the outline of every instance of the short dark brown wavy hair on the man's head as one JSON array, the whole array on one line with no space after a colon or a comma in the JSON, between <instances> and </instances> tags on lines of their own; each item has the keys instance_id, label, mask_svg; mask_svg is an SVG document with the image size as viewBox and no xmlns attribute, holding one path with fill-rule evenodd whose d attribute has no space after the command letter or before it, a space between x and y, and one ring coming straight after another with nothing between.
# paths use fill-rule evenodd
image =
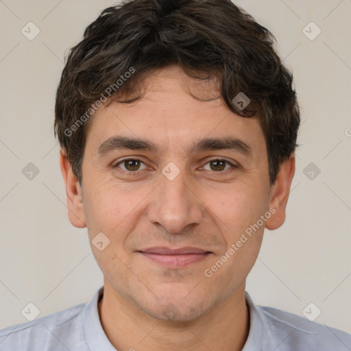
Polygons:
<instances>
[{"instance_id":1,"label":"short dark brown wavy hair on the man's head","mask_svg":"<svg viewBox=\"0 0 351 351\"><path fill-rule=\"evenodd\" d=\"M293 75L274 42L230 0L132 0L106 8L69 52L56 93L55 136L80 184L88 117L97 101L107 92L109 99L134 95L120 102L140 99L145 77L170 64L196 79L215 78L232 112L258 118L274 184L280 164L295 151L300 125ZM131 67L134 73L117 87ZM243 110L232 101L241 92L250 98Z\"/></svg>"}]
</instances>

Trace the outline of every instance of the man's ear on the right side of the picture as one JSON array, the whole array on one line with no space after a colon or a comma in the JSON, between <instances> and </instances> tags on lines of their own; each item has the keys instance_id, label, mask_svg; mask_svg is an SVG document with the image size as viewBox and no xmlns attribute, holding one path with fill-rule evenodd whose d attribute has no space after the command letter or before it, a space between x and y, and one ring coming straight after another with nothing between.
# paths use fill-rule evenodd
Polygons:
<instances>
[{"instance_id":1,"label":"man's ear on the right side of the picture","mask_svg":"<svg viewBox=\"0 0 351 351\"><path fill-rule=\"evenodd\" d=\"M269 230L277 229L285 222L285 208L294 174L295 155L291 154L290 158L280 165L276 182L271 186L269 208L274 208L276 212L266 221L265 227Z\"/></svg>"}]
</instances>

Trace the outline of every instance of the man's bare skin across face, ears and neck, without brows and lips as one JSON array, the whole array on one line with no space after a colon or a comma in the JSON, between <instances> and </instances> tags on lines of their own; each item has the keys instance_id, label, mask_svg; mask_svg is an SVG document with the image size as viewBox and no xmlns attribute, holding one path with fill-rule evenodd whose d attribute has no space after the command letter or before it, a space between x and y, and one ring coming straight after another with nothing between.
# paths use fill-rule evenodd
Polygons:
<instances>
[{"instance_id":1,"label":"man's bare skin across face, ears and neck, without brows and lips","mask_svg":"<svg viewBox=\"0 0 351 351\"><path fill-rule=\"evenodd\" d=\"M178 66L158 69L147 77L142 99L97 110L86 138L82 187L60 153L69 219L88 228L104 274L99 316L118 350L233 351L247 339L245 280L264 228L274 230L285 221L295 158L280 165L270 186L258 120L230 112L218 96L215 83L196 82ZM147 138L159 151L115 149L99 156L99 145L117 134ZM202 138L227 136L249 145L251 156L231 149L189 152ZM142 162L133 171L119 163L126 158ZM210 162L223 159L237 167ZM180 170L173 180L162 173L169 162ZM213 276L205 276L269 208L274 215ZM110 240L102 251L91 243L99 232ZM138 252L154 246L211 253L185 267L165 267Z\"/></svg>"}]
</instances>

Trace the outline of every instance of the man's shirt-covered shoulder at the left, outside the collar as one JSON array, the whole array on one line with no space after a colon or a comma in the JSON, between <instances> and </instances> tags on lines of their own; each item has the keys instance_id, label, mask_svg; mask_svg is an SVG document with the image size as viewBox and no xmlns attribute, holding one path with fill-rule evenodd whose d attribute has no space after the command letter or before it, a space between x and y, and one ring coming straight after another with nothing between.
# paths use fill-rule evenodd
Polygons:
<instances>
[{"instance_id":1,"label":"man's shirt-covered shoulder at the left, outside the collar","mask_svg":"<svg viewBox=\"0 0 351 351\"><path fill-rule=\"evenodd\" d=\"M66 350L82 335L82 312L86 304L66 308L32 322L0 330L1 351ZM75 349L76 350L76 349Z\"/></svg>"}]
</instances>

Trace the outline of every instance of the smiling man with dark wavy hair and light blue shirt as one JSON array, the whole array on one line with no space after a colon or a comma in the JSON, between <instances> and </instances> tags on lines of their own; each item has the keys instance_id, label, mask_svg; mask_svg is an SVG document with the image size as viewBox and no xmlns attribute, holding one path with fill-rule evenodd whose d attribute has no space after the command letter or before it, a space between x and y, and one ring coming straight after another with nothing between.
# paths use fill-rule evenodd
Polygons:
<instances>
[{"instance_id":1,"label":"smiling man with dark wavy hair and light blue shirt","mask_svg":"<svg viewBox=\"0 0 351 351\"><path fill-rule=\"evenodd\" d=\"M134 0L87 27L55 131L104 287L2 330L1 350L351 349L245 293L295 171L300 112L272 42L229 0Z\"/></svg>"}]
</instances>

